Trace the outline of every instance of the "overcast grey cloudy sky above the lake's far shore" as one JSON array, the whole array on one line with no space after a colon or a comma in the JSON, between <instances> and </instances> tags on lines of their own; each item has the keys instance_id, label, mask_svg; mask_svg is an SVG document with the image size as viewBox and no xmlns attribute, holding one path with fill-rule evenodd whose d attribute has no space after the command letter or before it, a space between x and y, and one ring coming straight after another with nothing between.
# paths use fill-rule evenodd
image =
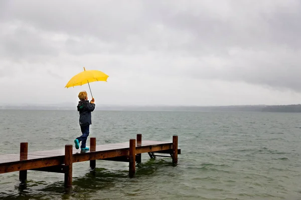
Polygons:
<instances>
[{"instance_id":1,"label":"overcast grey cloudy sky above the lake's far shore","mask_svg":"<svg viewBox=\"0 0 301 200\"><path fill-rule=\"evenodd\" d=\"M300 0L1 0L1 104L301 101ZM89 95L90 96L90 95Z\"/></svg>"}]
</instances>

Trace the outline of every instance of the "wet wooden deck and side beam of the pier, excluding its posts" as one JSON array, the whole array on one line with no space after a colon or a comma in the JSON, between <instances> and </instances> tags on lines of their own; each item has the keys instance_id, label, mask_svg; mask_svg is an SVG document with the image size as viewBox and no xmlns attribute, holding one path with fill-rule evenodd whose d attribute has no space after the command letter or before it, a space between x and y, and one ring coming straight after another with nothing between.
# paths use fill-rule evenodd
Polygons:
<instances>
[{"instance_id":1,"label":"wet wooden deck and side beam of the pier, excluding its posts","mask_svg":"<svg viewBox=\"0 0 301 200\"><path fill-rule=\"evenodd\" d=\"M136 144L136 153L172 149L170 141L142 140ZM96 145L95 150L81 151L73 147L72 162L105 159L129 155L129 142L108 143ZM0 173L29 170L39 167L48 167L63 164L65 149L39 150L23 153L0 155ZM27 159L26 159L27 157Z\"/></svg>"}]
</instances>

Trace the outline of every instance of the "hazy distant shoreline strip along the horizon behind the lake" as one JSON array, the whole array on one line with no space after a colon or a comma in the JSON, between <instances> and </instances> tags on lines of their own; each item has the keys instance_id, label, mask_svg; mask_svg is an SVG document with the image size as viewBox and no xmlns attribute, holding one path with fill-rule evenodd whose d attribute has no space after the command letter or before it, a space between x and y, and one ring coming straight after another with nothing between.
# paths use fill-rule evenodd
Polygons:
<instances>
[{"instance_id":1,"label":"hazy distant shoreline strip along the horizon behind the lake","mask_svg":"<svg viewBox=\"0 0 301 200\"><path fill-rule=\"evenodd\" d=\"M76 106L62 105L4 105L0 109L21 110L76 110ZM112 111L261 111L301 112L301 104L291 105L224 105L224 106L162 106L162 105L98 105L96 110Z\"/></svg>"}]
</instances>

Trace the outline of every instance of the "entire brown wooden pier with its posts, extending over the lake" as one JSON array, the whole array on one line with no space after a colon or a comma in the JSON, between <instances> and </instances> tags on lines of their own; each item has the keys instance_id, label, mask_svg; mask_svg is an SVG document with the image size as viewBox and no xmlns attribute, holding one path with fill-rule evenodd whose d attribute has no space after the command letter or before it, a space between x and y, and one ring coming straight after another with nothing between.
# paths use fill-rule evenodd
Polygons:
<instances>
[{"instance_id":1,"label":"entire brown wooden pier with its posts, extending over the lake","mask_svg":"<svg viewBox=\"0 0 301 200\"><path fill-rule=\"evenodd\" d=\"M0 155L0 173L20 171L20 180L27 179L27 170L65 173L65 186L68 187L72 185L72 165L75 162L90 161L92 169L96 167L97 159L129 162L129 176L132 177L136 162L141 162L141 153L148 153L151 158L172 157L173 163L177 163L178 154L181 154L178 136L174 135L173 142L168 142L142 140L142 135L137 134L136 139L129 139L129 142L101 145L96 145L96 138L91 137L88 151L66 144L65 149L28 152L28 142L22 142L20 154Z\"/></svg>"}]
</instances>

